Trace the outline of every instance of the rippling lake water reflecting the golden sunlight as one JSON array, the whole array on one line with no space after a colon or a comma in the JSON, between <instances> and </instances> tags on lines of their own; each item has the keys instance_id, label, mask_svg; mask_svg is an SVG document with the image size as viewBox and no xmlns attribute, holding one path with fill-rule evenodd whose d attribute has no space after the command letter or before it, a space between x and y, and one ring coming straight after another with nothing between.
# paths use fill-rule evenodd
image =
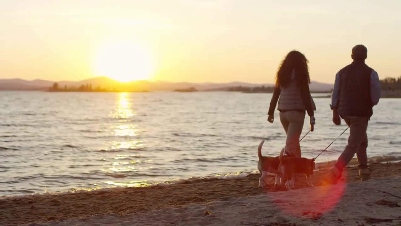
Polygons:
<instances>
[{"instance_id":1,"label":"rippling lake water reflecting the golden sunlight","mask_svg":"<svg viewBox=\"0 0 401 226\"><path fill-rule=\"evenodd\" d=\"M238 92L0 92L0 195L250 173L262 139L264 155L277 156L285 144L278 111L273 124L266 120L270 98ZM315 102L315 131L301 142L309 158L346 128L344 121L332 124L330 99ZM401 99L381 99L375 107L369 157L401 156L400 109ZM348 134L317 161L335 160Z\"/></svg>"}]
</instances>

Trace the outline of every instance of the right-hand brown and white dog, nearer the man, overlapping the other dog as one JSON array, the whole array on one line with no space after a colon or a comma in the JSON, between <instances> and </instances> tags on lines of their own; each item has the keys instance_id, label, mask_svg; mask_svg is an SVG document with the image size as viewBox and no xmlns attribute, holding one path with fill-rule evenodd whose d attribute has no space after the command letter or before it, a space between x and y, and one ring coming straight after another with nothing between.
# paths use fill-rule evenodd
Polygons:
<instances>
[{"instance_id":1,"label":"right-hand brown and white dog, nearer the man, overlapping the other dog","mask_svg":"<svg viewBox=\"0 0 401 226\"><path fill-rule=\"evenodd\" d=\"M308 158L294 158L286 157L280 162L280 173L282 173L282 181L286 181L286 188L291 190L294 187L295 177L294 174L305 174L308 186L313 187L310 181L310 176L313 175L315 169L315 160Z\"/></svg>"}]
</instances>

